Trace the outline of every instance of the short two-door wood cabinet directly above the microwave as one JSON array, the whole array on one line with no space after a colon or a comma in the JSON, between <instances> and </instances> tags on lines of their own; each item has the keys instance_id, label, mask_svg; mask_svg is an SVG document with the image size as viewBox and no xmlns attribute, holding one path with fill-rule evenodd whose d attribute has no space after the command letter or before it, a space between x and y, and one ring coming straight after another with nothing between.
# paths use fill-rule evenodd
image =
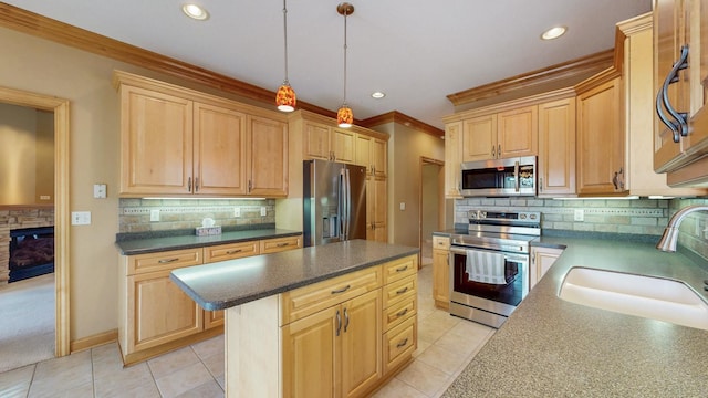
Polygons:
<instances>
[{"instance_id":1,"label":"short two-door wood cabinet directly above the microwave","mask_svg":"<svg viewBox=\"0 0 708 398\"><path fill-rule=\"evenodd\" d=\"M534 156L538 107L527 106L462 122L462 161Z\"/></svg>"}]
</instances>

